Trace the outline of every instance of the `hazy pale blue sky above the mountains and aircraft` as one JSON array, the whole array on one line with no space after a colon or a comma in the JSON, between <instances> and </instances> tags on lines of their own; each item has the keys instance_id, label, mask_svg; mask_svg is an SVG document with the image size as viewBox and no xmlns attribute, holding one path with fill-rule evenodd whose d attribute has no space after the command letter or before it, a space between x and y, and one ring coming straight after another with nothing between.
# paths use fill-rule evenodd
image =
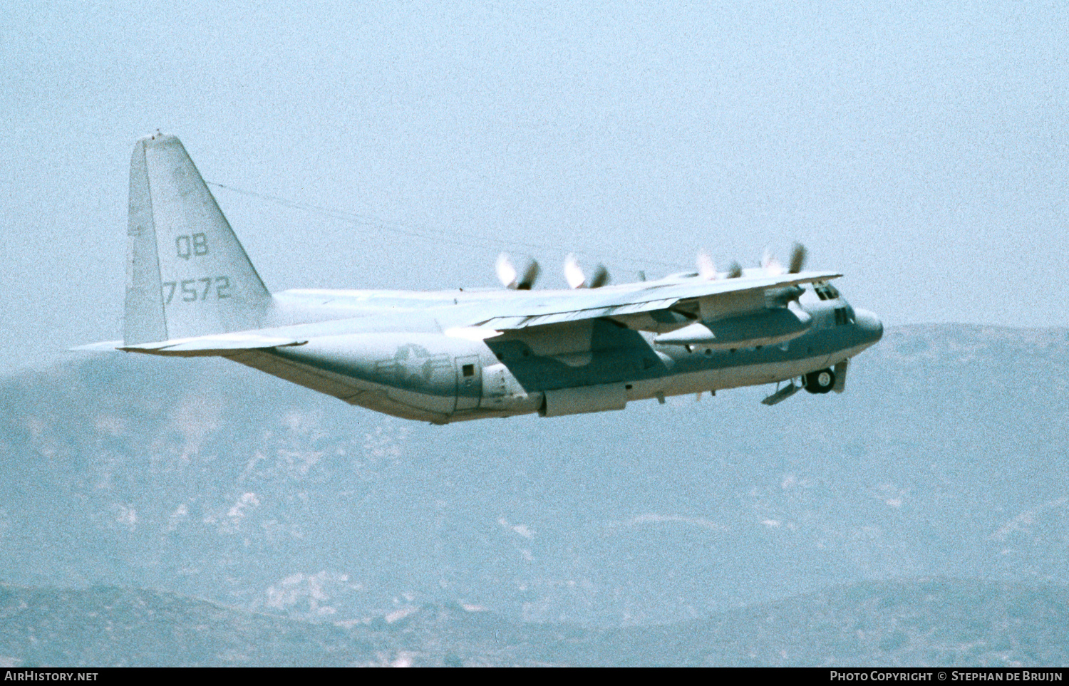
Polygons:
<instances>
[{"instance_id":1,"label":"hazy pale blue sky above the mountains and aircraft","mask_svg":"<svg viewBox=\"0 0 1069 686\"><path fill-rule=\"evenodd\" d=\"M1069 325L1069 3L0 1L0 371L122 332L157 127L272 290L809 247L889 325ZM607 4L607 6L606 6Z\"/></svg>"}]
</instances>

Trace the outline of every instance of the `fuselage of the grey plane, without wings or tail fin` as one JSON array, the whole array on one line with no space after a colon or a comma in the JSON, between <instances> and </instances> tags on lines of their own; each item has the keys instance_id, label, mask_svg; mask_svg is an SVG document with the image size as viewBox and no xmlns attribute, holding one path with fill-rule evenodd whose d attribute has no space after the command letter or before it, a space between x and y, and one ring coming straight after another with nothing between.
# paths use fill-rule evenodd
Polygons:
<instances>
[{"instance_id":1,"label":"fuselage of the grey plane, without wings or tail fin","mask_svg":"<svg viewBox=\"0 0 1069 686\"><path fill-rule=\"evenodd\" d=\"M811 326L775 345L664 345L605 318L469 338L477 313L502 295L284 292L264 332L308 342L228 357L354 405L449 423L623 409L630 401L783 381L834 367L883 332L841 296L819 300L807 290L800 305Z\"/></svg>"}]
</instances>

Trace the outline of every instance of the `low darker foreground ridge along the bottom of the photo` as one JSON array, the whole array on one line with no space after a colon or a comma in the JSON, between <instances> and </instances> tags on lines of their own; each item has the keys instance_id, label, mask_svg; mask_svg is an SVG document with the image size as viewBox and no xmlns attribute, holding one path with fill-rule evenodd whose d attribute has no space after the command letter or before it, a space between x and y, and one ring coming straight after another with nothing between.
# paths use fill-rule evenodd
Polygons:
<instances>
[{"instance_id":1,"label":"low darker foreground ridge along the bottom of the photo","mask_svg":"<svg viewBox=\"0 0 1069 686\"><path fill-rule=\"evenodd\" d=\"M522 624L423 605L341 625L169 593L0 587L6 666L1027 666L1069 664L1069 592L920 579L862 582L616 629Z\"/></svg>"}]
</instances>

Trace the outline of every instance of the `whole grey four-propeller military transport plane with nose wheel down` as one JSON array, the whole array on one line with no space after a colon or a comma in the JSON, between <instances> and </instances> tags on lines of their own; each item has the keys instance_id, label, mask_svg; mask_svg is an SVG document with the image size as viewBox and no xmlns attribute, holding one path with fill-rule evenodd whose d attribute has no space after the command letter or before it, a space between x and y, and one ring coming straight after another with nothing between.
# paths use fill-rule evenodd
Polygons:
<instances>
[{"instance_id":1,"label":"whole grey four-propeller military transport plane with nose wheel down","mask_svg":"<svg viewBox=\"0 0 1069 686\"><path fill-rule=\"evenodd\" d=\"M841 392L883 325L803 271L733 263L608 285L569 259L568 290L497 262L503 289L270 293L182 142L149 136L130 161L122 341L80 349L224 357L379 412L435 424L623 409L629 401L777 384ZM799 384L795 384L799 379ZM786 385L783 383L786 381Z\"/></svg>"}]
</instances>

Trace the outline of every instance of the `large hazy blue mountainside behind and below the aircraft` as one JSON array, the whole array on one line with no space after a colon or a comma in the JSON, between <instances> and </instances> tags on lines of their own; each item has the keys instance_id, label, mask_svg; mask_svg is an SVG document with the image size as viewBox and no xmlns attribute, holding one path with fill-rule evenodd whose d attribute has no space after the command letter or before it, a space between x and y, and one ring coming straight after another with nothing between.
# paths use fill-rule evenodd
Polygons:
<instances>
[{"instance_id":1,"label":"large hazy blue mountainside behind and below the aircraft","mask_svg":"<svg viewBox=\"0 0 1069 686\"><path fill-rule=\"evenodd\" d=\"M213 360L0 381L0 578L296 617L677 621L834 584L1069 582L1069 331L889 329L842 395L445 427Z\"/></svg>"}]
</instances>

